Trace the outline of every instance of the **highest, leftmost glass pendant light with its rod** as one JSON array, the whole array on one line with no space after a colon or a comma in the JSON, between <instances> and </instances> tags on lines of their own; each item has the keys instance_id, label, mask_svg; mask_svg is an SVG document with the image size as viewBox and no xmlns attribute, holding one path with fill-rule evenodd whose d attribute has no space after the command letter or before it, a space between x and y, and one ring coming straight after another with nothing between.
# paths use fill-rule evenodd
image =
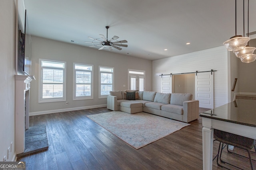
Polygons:
<instances>
[{"instance_id":1,"label":"highest, leftmost glass pendant light with its rod","mask_svg":"<svg viewBox=\"0 0 256 170\"><path fill-rule=\"evenodd\" d=\"M226 46L228 51L238 51L240 49L244 49L247 45L247 42L250 40L249 37L242 37L242 35L235 35L231 37L229 40L225 41L223 45Z\"/></svg>"}]
</instances>

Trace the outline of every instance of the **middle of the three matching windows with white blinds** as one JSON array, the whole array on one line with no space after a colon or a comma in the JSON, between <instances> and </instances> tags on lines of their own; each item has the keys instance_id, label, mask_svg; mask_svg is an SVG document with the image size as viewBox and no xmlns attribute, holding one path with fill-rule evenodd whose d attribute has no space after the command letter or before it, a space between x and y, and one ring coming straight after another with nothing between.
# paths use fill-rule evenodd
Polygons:
<instances>
[{"instance_id":1,"label":"middle of the three matching windows with white blinds","mask_svg":"<svg viewBox=\"0 0 256 170\"><path fill-rule=\"evenodd\" d=\"M93 99L93 66L74 63L73 100Z\"/></svg>"}]
</instances>

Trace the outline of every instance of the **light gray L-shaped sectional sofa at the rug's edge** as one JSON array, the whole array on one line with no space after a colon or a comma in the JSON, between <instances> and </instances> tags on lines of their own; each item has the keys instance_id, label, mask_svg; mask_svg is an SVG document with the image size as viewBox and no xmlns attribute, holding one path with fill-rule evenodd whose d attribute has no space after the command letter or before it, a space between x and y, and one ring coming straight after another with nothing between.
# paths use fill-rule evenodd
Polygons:
<instances>
[{"instance_id":1,"label":"light gray L-shaped sectional sofa at the rug's edge","mask_svg":"<svg viewBox=\"0 0 256 170\"><path fill-rule=\"evenodd\" d=\"M130 94L135 94L135 97L130 97ZM107 108L127 113L144 111L186 123L199 117L199 101L192 100L190 93L115 91L107 97Z\"/></svg>"}]
</instances>

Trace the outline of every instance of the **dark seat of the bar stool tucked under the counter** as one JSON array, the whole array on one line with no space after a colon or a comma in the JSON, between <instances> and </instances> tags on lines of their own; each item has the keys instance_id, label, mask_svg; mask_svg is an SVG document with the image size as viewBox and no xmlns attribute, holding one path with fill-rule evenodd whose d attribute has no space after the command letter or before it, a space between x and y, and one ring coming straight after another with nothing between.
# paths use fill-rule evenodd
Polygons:
<instances>
[{"instance_id":1,"label":"dark seat of the bar stool tucked under the counter","mask_svg":"<svg viewBox=\"0 0 256 170\"><path fill-rule=\"evenodd\" d=\"M226 143L228 145L233 145L234 147L239 147L241 149L251 150L255 145L254 139L220 131L218 129L214 129L214 138L217 141Z\"/></svg>"}]
</instances>

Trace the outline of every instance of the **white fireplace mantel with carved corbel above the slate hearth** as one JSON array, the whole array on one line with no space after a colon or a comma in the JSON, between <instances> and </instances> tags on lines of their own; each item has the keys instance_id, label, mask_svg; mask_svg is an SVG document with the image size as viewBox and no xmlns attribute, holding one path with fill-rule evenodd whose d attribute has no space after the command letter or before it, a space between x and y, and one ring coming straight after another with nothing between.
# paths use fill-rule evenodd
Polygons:
<instances>
[{"instance_id":1,"label":"white fireplace mantel with carved corbel above the slate hearth","mask_svg":"<svg viewBox=\"0 0 256 170\"><path fill-rule=\"evenodd\" d=\"M24 152L25 128L29 127L29 90L30 82L35 79L29 75L15 75L16 78L16 104L15 104L15 150ZM26 94L26 95L25 95ZM26 106L25 106L26 100ZM25 113L26 107L26 113ZM26 120L25 120L26 114ZM25 127L26 122L26 127Z\"/></svg>"}]
</instances>

